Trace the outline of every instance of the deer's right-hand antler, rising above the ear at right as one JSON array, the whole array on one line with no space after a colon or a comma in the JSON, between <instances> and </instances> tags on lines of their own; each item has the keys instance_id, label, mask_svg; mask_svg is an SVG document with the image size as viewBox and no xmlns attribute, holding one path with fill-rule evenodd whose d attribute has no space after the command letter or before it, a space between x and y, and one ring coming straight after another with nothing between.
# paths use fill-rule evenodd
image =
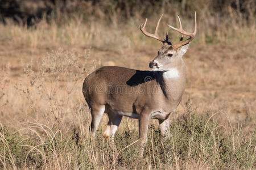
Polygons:
<instances>
[{"instance_id":1,"label":"deer's right-hand antler, rising above the ear at right","mask_svg":"<svg viewBox=\"0 0 256 170\"><path fill-rule=\"evenodd\" d=\"M168 25L169 27L171 27L172 29L174 29L175 31L181 33L182 35L187 35L187 36L189 36L189 39L187 39L187 40L185 40L185 41L180 41L178 44L173 45L173 48L174 48L174 49L177 49L177 48L179 48L180 46L183 46L183 45L185 45L185 44L188 44L189 42L191 42L191 41L194 39L194 37L195 37L195 35L196 35L196 11L195 11L195 28L194 28L194 32L193 32L193 33L185 31L185 30L182 28L182 25L181 25L179 16L177 16L177 18L179 19L179 23L180 23L180 28L179 28L179 29L174 28L174 27L172 27L171 25L168 25L168 24L167 24L167 25Z\"/></svg>"}]
</instances>

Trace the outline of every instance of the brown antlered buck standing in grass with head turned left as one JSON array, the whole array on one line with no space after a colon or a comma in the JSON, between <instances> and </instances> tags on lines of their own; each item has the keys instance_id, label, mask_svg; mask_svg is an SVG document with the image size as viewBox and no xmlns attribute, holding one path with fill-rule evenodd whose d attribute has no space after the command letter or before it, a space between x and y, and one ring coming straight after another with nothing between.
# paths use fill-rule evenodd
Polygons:
<instances>
[{"instance_id":1,"label":"brown antlered buck standing in grass with head turned left","mask_svg":"<svg viewBox=\"0 0 256 170\"><path fill-rule=\"evenodd\" d=\"M163 14L162 14L163 16ZM163 43L157 56L149 63L151 71L134 70L126 67L103 66L89 74L82 85L86 103L92 114L90 133L95 137L96 130L104 113L109 121L104 137L114 138L114 134L123 116L137 118L139 121L139 139L147 141L150 119L159 121L160 134L170 135L170 116L180 104L186 84L187 70L183 55L196 35L196 12L194 31L183 29L179 16L180 28L168 27L181 33L181 39L172 45L166 33L166 39L158 35L160 20L156 24L155 33L149 33L145 27L147 19L139 27L148 37ZM183 40L183 36L188 36Z\"/></svg>"}]
</instances>

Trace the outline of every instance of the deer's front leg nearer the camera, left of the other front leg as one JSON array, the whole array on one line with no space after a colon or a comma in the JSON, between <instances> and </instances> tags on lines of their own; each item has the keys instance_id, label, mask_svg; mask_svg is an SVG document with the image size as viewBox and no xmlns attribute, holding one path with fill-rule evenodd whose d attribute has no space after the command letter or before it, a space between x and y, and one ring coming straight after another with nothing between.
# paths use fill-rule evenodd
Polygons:
<instances>
[{"instance_id":1,"label":"deer's front leg nearer the camera, left of the other front leg","mask_svg":"<svg viewBox=\"0 0 256 170\"><path fill-rule=\"evenodd\" d=\"M139 116L139 137L141 138L141 154L143 156L144 146L147 141L147 130L148 130L148 122L150 118L150 113L144 111Z\"/></svg>"}]
</instances>

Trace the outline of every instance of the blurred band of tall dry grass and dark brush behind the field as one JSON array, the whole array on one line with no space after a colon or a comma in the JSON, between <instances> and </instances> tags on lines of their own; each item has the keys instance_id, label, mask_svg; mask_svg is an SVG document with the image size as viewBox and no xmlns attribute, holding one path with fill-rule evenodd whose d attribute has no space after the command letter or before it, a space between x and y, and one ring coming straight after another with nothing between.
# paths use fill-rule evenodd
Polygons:
<instances>
[{"instance_id":1,"label":"blurred band of tall dry grass and dark brush behind the field","mask_svg":"<svg viewBox=\"0 0 256 170\"><path fill-rule=\"evenodd\" d=\"M140 44L139 40L143 36L138 31L138 27L144 19L149 19L148 29L150 29L151 26L155 26L156 19L164 13L161 25L164 35L164 31L168 30L166 23L175 25L177 15L181 16L185 28L192 28L194 11L197 12L199 24L196 41L200 44L228 42L251 37L255 33L253 0L1 0L0 7L3 24L23 25L34 32L39 29L38 31L42 33L35 35L34 39L38 41L46 39L51 41L51 44L65 42L65 44L97 47L109 44L127 48L135 43ZM117 31L113 31L115 29ZM123 34L125 32L126 34ZM23 36L26 36L25 32L24 34ZM35 48L39 44L34 39L30 40L29 45ZM39 46L42 45L40 43Z\"/></svg>"}]
</instances>

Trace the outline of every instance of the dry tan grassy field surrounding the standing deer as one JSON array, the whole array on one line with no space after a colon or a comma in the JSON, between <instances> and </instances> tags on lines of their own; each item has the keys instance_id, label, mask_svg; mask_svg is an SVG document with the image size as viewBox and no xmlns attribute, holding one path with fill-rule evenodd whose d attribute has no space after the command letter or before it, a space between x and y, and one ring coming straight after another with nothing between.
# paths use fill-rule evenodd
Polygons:
<instances>
[{"instance_id":1,"label":"dry tan grassy field surrounding the standing deer","mask_svg":"<svg viewBox=\"0 0 256 170\"><path fill-rule=\"evenodd\" d=\"M165 13L163 36L165 23L177 25L176 14L191 31L196 10L198 31L184 56L187 87L171 117L171 138L163 139L151 120L142 159L138 120L123 118L117 151L102 137L107 116L91 141L82 95L84 78L98 67L149 70L162 44L139 31L145 19L139 12L122 19L93 7L97 17L56 12L32 26L0 23L0 168L255 169L255 13L228 8L222 19L208 5L191 15L163 9L148 16L152 31Z\"/></svg>"}]
</instances>

